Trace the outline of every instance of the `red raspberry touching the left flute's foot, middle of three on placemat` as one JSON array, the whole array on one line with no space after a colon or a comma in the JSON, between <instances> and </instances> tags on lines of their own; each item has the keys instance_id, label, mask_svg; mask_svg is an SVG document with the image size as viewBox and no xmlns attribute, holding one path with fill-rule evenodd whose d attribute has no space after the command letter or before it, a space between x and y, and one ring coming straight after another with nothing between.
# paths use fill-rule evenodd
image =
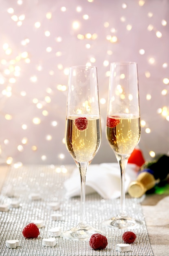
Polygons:
<instances>
[{"instance_id":1,"label":"red raspberry touching the left flute's foot, middle of three on placemat","mask_svg":"<svg viewBox=\"0 0 169 256\"><path fill-rule=\"evenodd\" d=\"M93 234L90 238L89 244L93 249L101 250L105 249L105 247L108 245L108 240L101 234Z\"/></svg>"}]
</instances>

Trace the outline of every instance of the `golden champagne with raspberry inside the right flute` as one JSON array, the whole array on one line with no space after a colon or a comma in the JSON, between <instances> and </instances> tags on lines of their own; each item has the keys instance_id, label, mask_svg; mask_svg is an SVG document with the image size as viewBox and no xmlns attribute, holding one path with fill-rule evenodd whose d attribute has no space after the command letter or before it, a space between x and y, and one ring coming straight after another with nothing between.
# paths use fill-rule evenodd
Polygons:
<instances>
[{"instance_id":1,"label":"golden champagne with raspberry inside the right flute","mask_svg":"<svg viewBox=\"0 0 169 256\"><path fill-rule=\"evenodd\" d=\"M140 140L140 118L131 115L108 117L106 135L115 153L130 155Z\"/></svg>"}]
</instances>

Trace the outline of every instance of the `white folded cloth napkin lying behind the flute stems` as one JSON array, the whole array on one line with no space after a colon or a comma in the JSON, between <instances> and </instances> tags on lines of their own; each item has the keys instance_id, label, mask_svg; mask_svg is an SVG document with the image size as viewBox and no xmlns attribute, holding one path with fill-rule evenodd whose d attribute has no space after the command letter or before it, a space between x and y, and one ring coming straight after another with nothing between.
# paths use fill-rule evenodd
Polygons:
<instances>
[{"instance_id":1,"label":"white folded cloth napkin lying behind the flute stems","mask_svg":"<svg viewBox=\"0 0 169 256\"><path fill-rule=\"evenodd\" d=\"M137 166L127 164L125 173L125 192L129 183L136 179ZM120 191L120 170L118 163L91 164L86 173L86 194L97 192L104 199L118 198ZM80 173L76 168L71 177L64 182L66 196L79 196L81 191Z\"/></svg>"}]
</instances>

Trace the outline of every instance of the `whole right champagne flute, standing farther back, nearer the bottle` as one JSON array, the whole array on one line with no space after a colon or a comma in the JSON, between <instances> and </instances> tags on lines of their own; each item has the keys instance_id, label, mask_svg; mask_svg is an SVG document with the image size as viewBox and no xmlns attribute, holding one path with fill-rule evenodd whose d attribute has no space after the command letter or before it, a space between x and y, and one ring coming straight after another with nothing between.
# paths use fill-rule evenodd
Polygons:
<instances>
[{"instance_id":1,"label":"whole right champagne flute, standing farther back, nearer the bottle","mask_svg":"<svg viewBox=\"0 0 169 256\"><path fill-rule=\"evenodd\" d=\"M140 140L137 63L111 63L106 136L121 171L121 210L103 225L134 229L142 223L125 209L125 171L128 158Z\"/></svg>"}]
</instances>

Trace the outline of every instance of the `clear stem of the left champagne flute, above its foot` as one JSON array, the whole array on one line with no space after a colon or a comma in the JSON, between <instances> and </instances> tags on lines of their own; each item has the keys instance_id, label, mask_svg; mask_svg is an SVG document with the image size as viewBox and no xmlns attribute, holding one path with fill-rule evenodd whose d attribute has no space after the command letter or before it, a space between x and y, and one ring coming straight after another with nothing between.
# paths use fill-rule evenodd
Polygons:
<instances>
[{"instance_id":1,"label":"clear stem of the left champagne flute, above its foot","mask_svg":"<svg viewBox=\"0 0 169 256\"><path fill-rule=\"evenodd\" d=\"M86 195L86 172L88 170L89 163L82 162L78 163L80 177L81 177L81 202L80 202L80 223L86 224L86 206L85 206L85 195Z\"/></svg>"}]
</instances>

